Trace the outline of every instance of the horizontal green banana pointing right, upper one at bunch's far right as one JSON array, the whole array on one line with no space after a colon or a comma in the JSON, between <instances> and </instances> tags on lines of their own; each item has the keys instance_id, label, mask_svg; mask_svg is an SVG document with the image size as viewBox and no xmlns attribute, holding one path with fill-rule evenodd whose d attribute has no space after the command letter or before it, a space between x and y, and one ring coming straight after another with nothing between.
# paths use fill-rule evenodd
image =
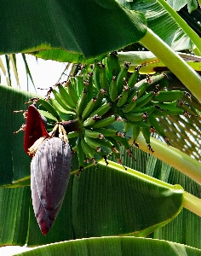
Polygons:
<instances>
[{"instance_id":1,"label":"horizontal green banana pointing right, upper one at bunch's far right","mask_svg":"<svg viewBox=\"0 0 201 256\"><path fill-rule=\"evenodd\" d=\"M184 96L184 91L181 90L166 90L159 91L158 96L153 96L153 101L157 102L174 102Z\"/></svg>"}]
</instances>

